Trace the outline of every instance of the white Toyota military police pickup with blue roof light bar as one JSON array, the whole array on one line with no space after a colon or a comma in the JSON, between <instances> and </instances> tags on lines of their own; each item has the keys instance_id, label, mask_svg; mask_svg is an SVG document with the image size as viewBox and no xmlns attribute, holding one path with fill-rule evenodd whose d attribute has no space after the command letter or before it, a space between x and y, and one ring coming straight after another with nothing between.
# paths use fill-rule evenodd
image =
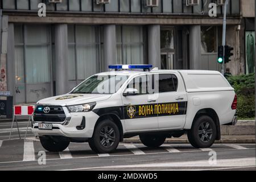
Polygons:
<instances>
[{"instance_id":1,"label":"white Toyota military police pickup with blue roof light bar","mask_svg":"<svg viewBox=\"0 0 256 182\"><path fill-rule=\"evenodd\" d=\"M147 147L187 134L196 148L221 138L220 125L237 122L237 96L216 71L110 65L68 94L37 102L32 131L48 151L88 142L98 153L115 151L123 138L139 135Z\"/></svg>"}]
</instances>

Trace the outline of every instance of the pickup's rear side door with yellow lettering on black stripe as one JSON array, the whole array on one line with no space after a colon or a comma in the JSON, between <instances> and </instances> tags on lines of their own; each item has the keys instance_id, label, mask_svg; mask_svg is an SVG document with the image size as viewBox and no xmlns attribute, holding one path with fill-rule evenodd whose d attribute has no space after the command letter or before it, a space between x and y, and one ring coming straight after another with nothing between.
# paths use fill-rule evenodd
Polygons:
<instances>
[{"instance_id":1,"label":"pickup's rear side door with yellow lettering on black stripe","mask_svg":"<svg viewBox=\"0 0 256 182\"><path fill-rule=\"evenodd\" d=\"M159 73L158 128L182 129L187 110L187 93L178 73Z\"/></svg>"}]
</instances>

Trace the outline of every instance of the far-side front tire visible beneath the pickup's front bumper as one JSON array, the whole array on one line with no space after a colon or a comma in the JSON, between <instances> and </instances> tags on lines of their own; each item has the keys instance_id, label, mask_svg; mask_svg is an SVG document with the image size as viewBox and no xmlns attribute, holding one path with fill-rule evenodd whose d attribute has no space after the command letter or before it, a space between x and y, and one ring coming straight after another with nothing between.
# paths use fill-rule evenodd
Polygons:
<instances>
[{"instance_id":1,"label":"far-side front tire visible beneath the pickup's front bumper","mask_svg":"<svg viewBox=\"0 0 256 182\"><path fill-rule=\"evenodd\" d=\"M40 142L44 149L46 149L49 152L61 152L64 151L68 146L68 141L61 141L58 140L57 142L51 138L46 137L40 137Z\"/></svg>"}]
</instances>

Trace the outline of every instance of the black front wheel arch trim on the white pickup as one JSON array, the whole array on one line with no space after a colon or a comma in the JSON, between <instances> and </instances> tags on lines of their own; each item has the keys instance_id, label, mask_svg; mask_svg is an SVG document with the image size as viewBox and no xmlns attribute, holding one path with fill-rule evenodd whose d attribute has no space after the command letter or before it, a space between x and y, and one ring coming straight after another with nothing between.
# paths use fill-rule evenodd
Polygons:
<instances>
[{"instance_id":1,"label":"black front wheel arch trim on the white pickup","mask_svg":"<svg viewBox=\"0 0 256 182\"><path fill-rule=\"evenodd\" d=\"M93 130L93 133L97 127L97 125L104 121L105 119L110 119L111 121L113 121L118 129L119 129L119 133L120 133L120 142L123 141L123 126L122 126L122 123L121 123L121 119L116 115L116 114L104 114L104 115L101 115L100 118L97 119L97 122L94 126L94 130Z\"/></svg>"}]
</instances>

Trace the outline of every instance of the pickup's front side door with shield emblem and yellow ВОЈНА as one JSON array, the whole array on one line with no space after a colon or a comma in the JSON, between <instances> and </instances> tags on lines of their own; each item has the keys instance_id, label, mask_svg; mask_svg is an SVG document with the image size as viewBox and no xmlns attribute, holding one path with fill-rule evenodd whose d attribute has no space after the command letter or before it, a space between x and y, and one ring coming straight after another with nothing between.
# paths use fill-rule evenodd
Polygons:
<instances>
[{"instance_id":1,"label":"pickup's front side door with shield emblem and yellow \u0412\u041e\u0408\u041d\u0410","mask_svg":"<svg viewBox=\"0 0 256 182\"><path fill-rule=\"evenodd\" d=\"M158 115L154 107L157 104L157 97L150 91L152 78L148 75L135 77L127 88L137 89L138 93L134 96L122 96L126 131L157 130Z\"/></svg>"}]
</instances>

